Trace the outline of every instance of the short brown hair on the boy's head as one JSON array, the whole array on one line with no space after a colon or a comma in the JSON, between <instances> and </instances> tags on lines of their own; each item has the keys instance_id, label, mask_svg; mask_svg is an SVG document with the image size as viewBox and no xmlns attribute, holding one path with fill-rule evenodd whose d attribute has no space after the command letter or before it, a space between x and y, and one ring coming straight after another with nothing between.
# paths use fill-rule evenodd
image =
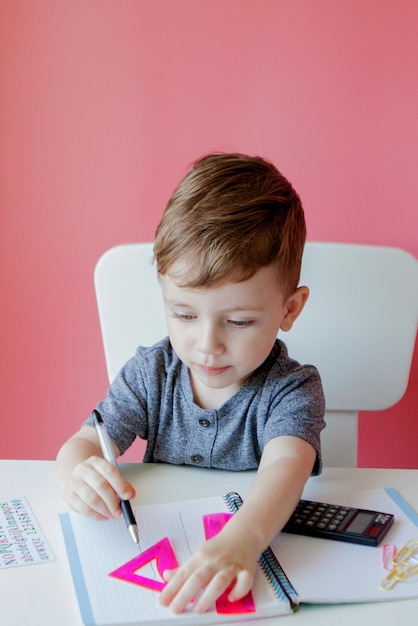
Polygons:
<instances>
[{"instance_id":1,"label":"short brown hair on the boy's head","mask_svg":"<svg viewBox=\"0 0 418 626\"><path fill-rule=\"evenodd\" d=\"M183 287L251 278L274 265L283 295L298 286L306 225L289 181L260 157L210 154L175 189L157 228L160 274L188 261Z\"/></svg>"}]
</instances>

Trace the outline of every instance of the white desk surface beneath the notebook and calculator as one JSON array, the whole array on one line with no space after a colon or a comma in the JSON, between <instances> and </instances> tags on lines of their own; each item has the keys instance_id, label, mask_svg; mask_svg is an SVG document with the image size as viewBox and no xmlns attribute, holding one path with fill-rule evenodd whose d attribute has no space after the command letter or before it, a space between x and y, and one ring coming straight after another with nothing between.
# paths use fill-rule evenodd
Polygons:
<instances>
[{"instance_id":1,"label":"white desk surface beneath the notebook and calculator","mask_svg":"<svg viewBox=\"0 0 418 626\"><path fill-rule=\"evenodd\" d=\"M220 495L236 490L245 495L252 472L222 472L171 465L127 464L123 471L135 485L136 504ZM326 469L311 478L304 496L395 487L418 509L418 470ZM0 461L0 497L26 496L57 560L53 563L0 571L2 626L81 626L58 513L68 507L55 486L53 461ZM418 533L417 533L418 535ZM353 626L353 623L392 626L415 623L418 599L373 604L302 606L294 615L247 622L272 626Z\"/></svg>"}]
</instances>

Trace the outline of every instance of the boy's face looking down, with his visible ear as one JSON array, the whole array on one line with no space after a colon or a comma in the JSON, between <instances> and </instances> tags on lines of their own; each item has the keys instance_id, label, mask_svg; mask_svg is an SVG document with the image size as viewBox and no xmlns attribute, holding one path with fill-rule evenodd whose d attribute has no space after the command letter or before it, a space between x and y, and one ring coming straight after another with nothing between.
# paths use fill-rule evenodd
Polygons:
<instances>
[{"instance_id":1,"label":"boy's face looking down, with his visible ear","mask_svg":"<svg viewBox=\"0 0 418 626\"><path fill-rule=\"evenodd\" d=\"M196 403L218 408L265 361L279 329L289 330L300 311L295 314L293 304L289 309L292 296L284 301L271 266L243 282L199 289L179 287L186 267L178 261L160 276L168 333L190 370Z\"/></svg>"}]
</instances>

